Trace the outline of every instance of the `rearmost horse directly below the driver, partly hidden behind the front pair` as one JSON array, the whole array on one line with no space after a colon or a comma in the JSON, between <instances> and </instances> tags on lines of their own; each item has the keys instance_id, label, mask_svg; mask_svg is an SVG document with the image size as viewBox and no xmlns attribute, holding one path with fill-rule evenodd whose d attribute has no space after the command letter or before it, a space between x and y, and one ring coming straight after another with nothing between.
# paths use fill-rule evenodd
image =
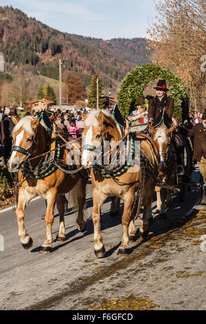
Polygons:
<instances>
[{"instance_id":1,"label":"rearmost horse directly below the driver, partly hidden behind the front pair","mask_svg":"<svg viewBox=\"0 0 206 324\"><path fill-rule=\"evenodd\" d=\"M150 124L150 130L153 134L153 139L157 143L160 155L160 168L159 168L159 179L163 183L172 186L175 180L175 154L171 150L171 139L172 132L175 129L175 125L171 128L167 128L164 124L154 128ZM166 203L167 205L172 204L172 193L171 190L165 188L155 187L157 193L157 212L161 217L166 216Z\"/></svg>"}]
</instances>

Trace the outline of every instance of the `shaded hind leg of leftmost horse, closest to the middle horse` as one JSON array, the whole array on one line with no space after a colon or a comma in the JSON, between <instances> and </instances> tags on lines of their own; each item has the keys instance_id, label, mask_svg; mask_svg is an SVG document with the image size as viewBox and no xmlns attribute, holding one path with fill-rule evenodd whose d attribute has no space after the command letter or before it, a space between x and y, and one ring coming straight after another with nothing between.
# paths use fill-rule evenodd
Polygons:
<instances>
[{"instance_id":1,"label":"shaded hind leg of leftmost horse, closest to the middle horse","mask_svg":"<svg viewBox=\"0 0 206 324\"><path fill-rule=\"evenodd\" d=\"M80 232L85 232L87 220L84 219L84 209L86 203L87 179L80 179L76 184L76 196L78 203L78 218L76 226Z\"/></svg>"}]
</instances>

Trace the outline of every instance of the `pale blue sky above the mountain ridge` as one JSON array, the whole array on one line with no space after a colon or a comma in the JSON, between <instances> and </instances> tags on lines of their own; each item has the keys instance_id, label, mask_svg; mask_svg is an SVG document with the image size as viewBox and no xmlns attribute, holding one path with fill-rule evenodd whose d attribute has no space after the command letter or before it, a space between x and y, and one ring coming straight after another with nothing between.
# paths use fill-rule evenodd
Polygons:
<instances>
[{"instance_id":1,"label":"pale blue sky above the mountain ridge","mask_svg":"<svg viewBox=\"0 0 206 324\"><path fill-rule=\"evenodd\" d=\"M102 39L147 37L155 0L0 0L61 32Z\"/></svg>"}]
</instances>

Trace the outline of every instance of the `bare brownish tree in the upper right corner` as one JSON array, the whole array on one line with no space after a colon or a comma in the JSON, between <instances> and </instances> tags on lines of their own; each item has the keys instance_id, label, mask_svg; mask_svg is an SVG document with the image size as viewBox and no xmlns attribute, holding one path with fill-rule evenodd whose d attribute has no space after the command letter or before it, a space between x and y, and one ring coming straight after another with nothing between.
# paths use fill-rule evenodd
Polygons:
<instances>
[{"instance_id":1,"label":"bare brownish tree in the upper right corner","mask_svg":"<svg viewBox=\"0 0 206 324\"><path fill-rule=\"evenodd\" d=\"M195 110L203 110L206 99L206 72L201 58L206 54L205 0L162 0L156 5L158 17L148 35L155 49L153 63L169 68L185 83Z\"/></svg>"}]
</instances>

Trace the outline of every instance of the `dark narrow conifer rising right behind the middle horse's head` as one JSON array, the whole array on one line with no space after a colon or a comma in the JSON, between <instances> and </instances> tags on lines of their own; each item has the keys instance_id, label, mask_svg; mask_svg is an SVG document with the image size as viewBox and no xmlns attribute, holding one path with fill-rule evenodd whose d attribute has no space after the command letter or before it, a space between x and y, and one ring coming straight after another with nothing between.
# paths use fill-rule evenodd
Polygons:
<instances>
[{"instance_id":1,"label":"dark narrow conifer rising right behind the middle horse's head","mask_svg":"<svg viewBox=\"0 0 206 324\"><path fill-rule=\"evenodd\" d=\"M104 85L98 74L95 74L91 80L90 90L88 93L88 105L90 108L97 108L97 80L99 108L102 109L105 105L105 98L103 97Z\"/></svg>"}]
</instances>

